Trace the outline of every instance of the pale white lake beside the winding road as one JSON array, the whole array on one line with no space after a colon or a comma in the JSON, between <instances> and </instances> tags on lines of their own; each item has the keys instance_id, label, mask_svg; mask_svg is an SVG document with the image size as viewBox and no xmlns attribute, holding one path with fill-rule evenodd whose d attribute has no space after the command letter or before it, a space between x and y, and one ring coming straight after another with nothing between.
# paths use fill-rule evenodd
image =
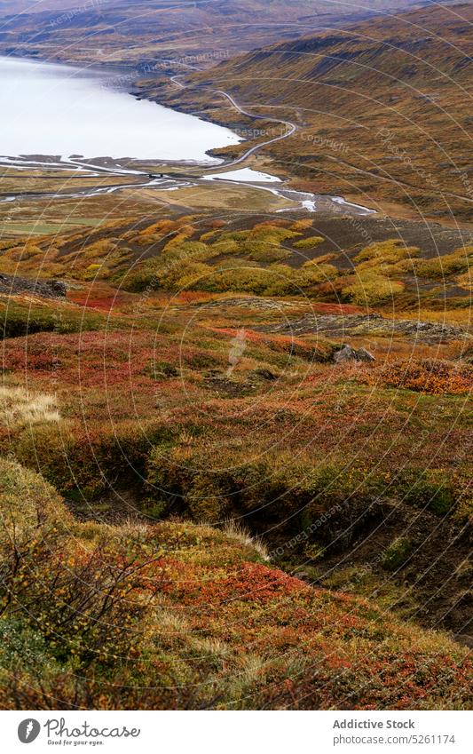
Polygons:
<instances>
[{"instance_id":1,"label":"pale white lake beside the winding road","mask_svg":"<svg viewBox=\"0 0 473 754\"><path fill-rule=\"evenodd\" d=\"M0 155L212 160L229 129L120 91L123 74L0 57ZM130 79L131 85L131 79Z\"/></svg>"}]
</instances>

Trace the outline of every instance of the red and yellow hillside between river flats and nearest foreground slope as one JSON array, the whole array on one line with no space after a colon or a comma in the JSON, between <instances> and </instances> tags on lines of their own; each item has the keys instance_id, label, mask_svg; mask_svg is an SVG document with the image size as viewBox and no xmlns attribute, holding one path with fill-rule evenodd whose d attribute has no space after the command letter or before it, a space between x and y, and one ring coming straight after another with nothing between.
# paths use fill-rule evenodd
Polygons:
<instances>
[{"instance_id":1,"label":"red and yellow hillside between river flats and nearest foreground slope","mask_svg":"<svg viewBox=\"0 0 473 754\"><path fill-rule=\"evenodd\" d=\"M0 449L81 518L242 520L273 566L468 643L473 247L389 231L337 253L307 218L193 215L4 241Z\"/></svg>"}]
</instances>

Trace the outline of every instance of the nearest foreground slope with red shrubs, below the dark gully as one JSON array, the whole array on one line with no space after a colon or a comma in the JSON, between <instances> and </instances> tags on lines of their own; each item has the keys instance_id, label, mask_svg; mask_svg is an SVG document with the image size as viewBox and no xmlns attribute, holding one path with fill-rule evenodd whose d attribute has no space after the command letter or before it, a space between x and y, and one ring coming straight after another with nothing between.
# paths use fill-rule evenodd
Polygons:
<instances>
[{"instance_id":1,"label":"nearest foreground slope with red shrubs, below the dark gully","mask_svg":"<svg viewBox=\"0 0 473 754\"><path fill-rule=\"evenodd\" d=\"M18 464L0 480L4 709L468 703L461 647L264 565L244 536L80 524Z\"/></svg>"}]
</instances>

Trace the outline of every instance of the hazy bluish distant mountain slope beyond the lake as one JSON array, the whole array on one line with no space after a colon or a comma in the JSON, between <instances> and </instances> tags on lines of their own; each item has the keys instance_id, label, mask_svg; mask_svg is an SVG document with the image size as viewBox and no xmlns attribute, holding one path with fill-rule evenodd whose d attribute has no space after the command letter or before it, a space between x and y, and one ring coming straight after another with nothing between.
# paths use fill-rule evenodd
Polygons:
<instances>
[{"instance_id":1,"label":"hazy bluish distant mountain slope beyond the lake","mask_svg":"<svg viewBox=\"0 0 473 754\"><path fill-rule=\"evenodd\" d=\"M0 23L0 52L127 65L199 55L199 66L205 67L264 44L413 4L414 0L8 0L0 15L23 15Z\"/></svg>"}]
</instances>

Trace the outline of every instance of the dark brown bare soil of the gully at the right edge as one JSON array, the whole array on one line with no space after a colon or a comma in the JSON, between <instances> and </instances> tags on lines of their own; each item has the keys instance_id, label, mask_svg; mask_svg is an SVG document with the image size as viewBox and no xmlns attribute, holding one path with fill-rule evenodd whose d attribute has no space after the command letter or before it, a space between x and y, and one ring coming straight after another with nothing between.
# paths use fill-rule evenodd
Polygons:
<instances>
[{"instance_id":1,"label":"dark brown bare soil of the gully at the right edge","mask_svg":"<svg viewBox=\"0 0 473 754\"><path fill-rule=\"evenodd\" d=\"M403 504L392 504L377 515L367 518L343 545L328 544L326 556L317 567L316 583L327 585L335 571L357 567L359 574L374 575L377 587L374 598L390 584L399 589L398 604L403 609L409 600L414 607L407 610L410 618L423 625L453 631L462 643L471 637L471 572L467 567L471 554L471 526L440 518L429 511L415 511ZM335 532L331 532L335 539ZM407 538L411 554L393 571L383 567L383 553L398 537ZM350 538L350 537L349 537ZM353 571L351 572L353 577ZM347 582L350 577L347 575ZM347 584L340 583L343 591Z\"/></svg>"}]
</instances>

